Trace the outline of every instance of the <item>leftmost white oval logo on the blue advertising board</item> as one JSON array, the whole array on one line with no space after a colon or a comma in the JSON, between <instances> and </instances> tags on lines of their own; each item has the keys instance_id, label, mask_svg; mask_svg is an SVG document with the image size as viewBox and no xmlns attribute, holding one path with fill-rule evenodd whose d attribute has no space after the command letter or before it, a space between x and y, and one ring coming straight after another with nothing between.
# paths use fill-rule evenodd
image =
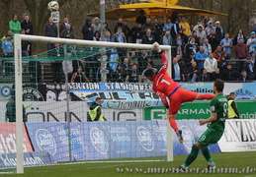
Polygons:
<instances>
[{"instance_id":1,"label":"leftmost white oval logo on the blue advertising board","mask_svg":"<svg viewBox=\"0 0 256 177\"><path fill-rule=\"evenodd\" d=\"M41 150L48 151L51 155L56 153L56 142L47 130L39 129L36 132L36 142Z\"/></svg>"}]
</instances>

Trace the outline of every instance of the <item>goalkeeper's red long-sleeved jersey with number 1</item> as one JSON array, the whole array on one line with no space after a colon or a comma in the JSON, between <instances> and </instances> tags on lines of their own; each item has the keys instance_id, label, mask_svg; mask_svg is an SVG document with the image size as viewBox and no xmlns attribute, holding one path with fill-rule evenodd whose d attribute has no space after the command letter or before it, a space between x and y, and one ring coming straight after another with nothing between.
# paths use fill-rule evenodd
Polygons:
<instances>
[{"instance_id":1,"label":"goalkeeper's red long-sleeved jersey with number 1","mask_svg":"<svg viewBox=\"0 0 256 177\"><path fill-rule=\"evenodd\" d=\"M163 104L167 106L168 102L166 100L166 96L170 97L177 89L180 88L180 85L174 82L167 73L168 60L165 53L161 53L160 55L163 59L162 67L153 79L153 90L161 97Z\"/></svg>"}]
</instances>

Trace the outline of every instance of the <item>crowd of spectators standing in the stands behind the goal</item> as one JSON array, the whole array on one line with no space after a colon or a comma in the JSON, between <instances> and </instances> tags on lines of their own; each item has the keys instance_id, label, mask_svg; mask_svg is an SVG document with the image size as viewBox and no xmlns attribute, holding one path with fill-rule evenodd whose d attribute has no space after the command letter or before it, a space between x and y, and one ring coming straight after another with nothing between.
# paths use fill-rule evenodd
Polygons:
<instances>
[{"instance_id":1,"label":"crowd of spectators standing in the stands behind the goal","mask_svg":"<svg viewBox=\"0 0 256 177\"><path fill-rule=\"evenodd\" d=\"M220 22L213 22L212 18L207 21L200 19L194 26L187 22L186 17L173 14L165 24L161 24L157 18L145 17L144 11L140 11L132 28L129 28L128 23L131 22L120 18L114 29L110 29L107 23L101 24L97 17L86 19L81 33L85 40L137 44L157 41L170 45L172 78L177 82L208 82L215 79L246 82L256 79L256 29L251 30L248 39L243 29L239 29L231 39ZM59 33L59 37L76 38L67 17L63 18L59 29L53 19L49 18L43 32L44 36L56 37ZM2 37L3 57L13 57L12 36L15 33L34 34L29 15L24 16L22 23L18 21L17 15L13 16L7 34ZM32 55L32 45L30 42L22 42L23 56ZM58 43L47 43L47 50L49 56L63 54ZM119 58L117 65L107 66L110 82L147 82L143 78L143 71L146 68L157 71L158 66L154 61L159 55L153 51L117 48L108 54L108 61L115 53ZM85 58L84 62L52 60L52 82L60 83L63 73L67 73L69 82L97 82L95 78L101 66L97 57L99 55ZM11 68L12 63L5 61L4 66L5 72L10 72L8 67ZM30 73L31 76L35 75L33 69Z\"/></svg>"}]
</instances>

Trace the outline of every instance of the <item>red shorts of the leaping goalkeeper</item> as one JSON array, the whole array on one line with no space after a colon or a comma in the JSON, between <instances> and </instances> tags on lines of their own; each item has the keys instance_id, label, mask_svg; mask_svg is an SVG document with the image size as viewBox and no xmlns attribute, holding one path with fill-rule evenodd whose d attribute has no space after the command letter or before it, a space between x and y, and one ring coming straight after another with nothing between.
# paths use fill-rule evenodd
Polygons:
<instances>
[{"instance_id":1,"label":"red shorts of the leaping goalkeeper","mask_svg":"<svg viewBox=\"0 0 256 177\"><path fill-rule=\"evenodd\" d=\"M183 88L177 89L169 97L170 107L169 107L168 113L176 114L179 111L180 106L183 102L193 101L198 94L199 94L198 92L194 92L194 91L183 89Z\"/></svg>"}]
</instances>

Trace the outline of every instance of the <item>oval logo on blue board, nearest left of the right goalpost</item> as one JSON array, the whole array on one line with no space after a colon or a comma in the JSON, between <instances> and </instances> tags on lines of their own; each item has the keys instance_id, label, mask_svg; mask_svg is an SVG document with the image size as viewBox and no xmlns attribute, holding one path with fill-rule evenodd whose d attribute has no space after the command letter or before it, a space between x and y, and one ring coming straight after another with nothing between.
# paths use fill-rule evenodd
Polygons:
<instances>
[{"instance_id":1,"label":"oval logo on blue board, nearest left of the right goalpost","mask_svg":"<svg viewBox=\"0 0 256 177\"><path fill-rule=\"evenodd\" d=\"M142 148L147 151L152 151L154 149L154 140L150 132L145 127L138 127L136 130L136 136Z\"/></svg>"}]
</instances>

